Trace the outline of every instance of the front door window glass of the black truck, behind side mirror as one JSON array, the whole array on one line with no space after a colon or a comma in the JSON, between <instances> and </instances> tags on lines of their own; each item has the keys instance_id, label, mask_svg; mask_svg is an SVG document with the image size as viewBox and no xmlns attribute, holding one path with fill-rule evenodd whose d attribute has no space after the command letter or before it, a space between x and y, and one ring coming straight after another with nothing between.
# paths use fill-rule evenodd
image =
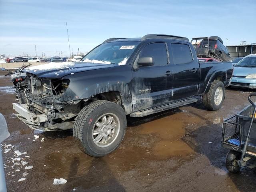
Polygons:
<instances>
[{"instance_id":1,"label":"front door window glass of the black truck, behind side mirror","mask_svg":"<svg viewBox=\"0 0 256 192\"><path fill-rule=\"evenodd\" d=\"M146 45L140 52L140 58L147 56L153 57L153 66L166 66L168 64L165 43L151 43Z\"/></svg>"}]
</instances>

